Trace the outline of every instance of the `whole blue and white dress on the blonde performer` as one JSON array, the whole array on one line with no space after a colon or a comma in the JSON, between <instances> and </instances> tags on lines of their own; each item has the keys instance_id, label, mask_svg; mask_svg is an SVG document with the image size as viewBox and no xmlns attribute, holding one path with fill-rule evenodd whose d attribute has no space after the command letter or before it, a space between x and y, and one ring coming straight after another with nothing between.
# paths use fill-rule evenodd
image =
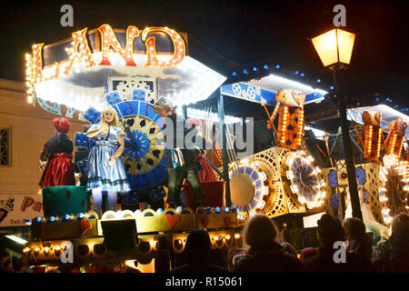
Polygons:
<instances>
[{"instance_id":1,"label":"whole blue and white dress on the blonde performer","mask_svg":"<svg viewBox=\"0 0 409 291\"><path fill-rule=\"evenodd\" d=\"M93 125L99 129L101 125ZM114 165L109 165L109 157L118 150L118 135L125 135L117 126L109 126L108 134L99 133L94 136L94 146L88 156L88 181L86 190L100 188L101 191L125 194L131 191L122 156L116 158Z\"/></svg>"}]
</instances>

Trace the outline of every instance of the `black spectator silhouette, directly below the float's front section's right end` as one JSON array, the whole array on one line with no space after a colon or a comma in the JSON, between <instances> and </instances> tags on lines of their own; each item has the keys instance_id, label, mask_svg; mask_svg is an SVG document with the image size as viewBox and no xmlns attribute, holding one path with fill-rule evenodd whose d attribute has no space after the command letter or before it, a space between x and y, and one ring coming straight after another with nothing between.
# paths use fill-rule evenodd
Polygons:
<instances>
[{"instance_id":1,"label":"black spectator silhouette, directly below the float's front section's right end","mask_svg":"<svg viewBox=\"0 0 409 291\"><path fill-rule=\"evenodd\" d=\"M176 266L170 273L228 273L222 266L210 264L212 243L209 234L204 229L195 229L186 239L184 265Z\"/></svg>"}]
</instances>

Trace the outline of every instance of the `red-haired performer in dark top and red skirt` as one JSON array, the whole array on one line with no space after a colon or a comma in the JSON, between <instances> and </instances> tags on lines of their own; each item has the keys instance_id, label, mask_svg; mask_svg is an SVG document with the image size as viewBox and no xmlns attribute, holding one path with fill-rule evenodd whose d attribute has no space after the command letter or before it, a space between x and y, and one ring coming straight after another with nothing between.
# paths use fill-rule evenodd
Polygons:
<instances>
[{"instance_id":1,"label":"red-haired performer in dark top and red skirt","mask_svg":"<svg viewBox=\"0 0 409 291\"><path fill-rule=\"evenodd\" d=\"M43 171L40 188L74 186L73 142L66 135L70 131L71 124L65 118L55 118L53 124L55 135L45 143L40 156L40 169Z\"/></svg>"}]
</instances>

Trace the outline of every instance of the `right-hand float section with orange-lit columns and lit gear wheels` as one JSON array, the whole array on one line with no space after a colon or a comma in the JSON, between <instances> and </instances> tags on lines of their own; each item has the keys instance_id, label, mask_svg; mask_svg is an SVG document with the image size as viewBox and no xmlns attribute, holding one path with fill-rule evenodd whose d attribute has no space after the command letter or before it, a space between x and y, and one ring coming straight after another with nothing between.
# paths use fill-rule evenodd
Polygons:
<instances>
[{"instance_id":1,"label":"right-hand float section with orange-lit columns and lit gear wheels","mask_svg":"<svg viewBox=\"0 0 409 291\"><path fill-rule=\"evenodd\" d=\"M225 155L230 177L226 195L230 190L239 222L254 213L272 218L322 212L340 219L351 216L338 105L328 94L334 86L328 91L314 87L320 79L305 85L303 73L284 71L280 65L237 69L225 83L220 89L224 112L243 118L254 112L254 155ZM364 222L384 237L389 236L385 229L392 218L408 211L409 108L391 102L379 94L356 96L347 110ZM208 98L193 106L219 104ZM257 126L255 119L261 115L268 122L259 118L262 125ZM242 119L242 124L247 122ZM266 142L255 145L257 139Z\"/></svg>"}]
</instances>

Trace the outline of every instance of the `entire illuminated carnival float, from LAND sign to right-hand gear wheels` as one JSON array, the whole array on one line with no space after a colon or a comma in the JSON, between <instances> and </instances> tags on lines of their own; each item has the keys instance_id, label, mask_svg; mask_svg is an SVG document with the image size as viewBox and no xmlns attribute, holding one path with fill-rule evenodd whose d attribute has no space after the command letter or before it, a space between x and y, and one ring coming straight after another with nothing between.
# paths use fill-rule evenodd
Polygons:
<instances>
[{"instance_id":1,"label":"entire illuminated carnival float, from LAND sign to right-hand gear wheels","mask_svg":"<svg viewBox=\"0 0 409 291\"><path fill-rule=\"evenodd\" d=\"M340 196L348 204L348 181L344 156L337 152L342 137L327 122L337 115L333 101L324 98L329 92L317 84L285 78L280 65L254 66L224 77L187 54L187 35L167 27L139 31L132 25L126 30L85 28L53 45L33 45L26 62L29 103L88 124L97 123L106 106L115 108L125 129L125 169L135 193L163 195L164 123L153 110L160 96L178 105L178 114L199 125L200 135L211 141L205 156L214 167L214 183L223 188L216 187L214 198L214 188L202 183L205 200L195 211L186 203L107 211L102 217L89 211L89 196L79 186L46 201L45 191L45 217L27 219L32 239L24 252L33 265L57 266L65 249L72 248L74 261L84 265L135 261L143 272L155 272L161 251L181 254L195 228L209 232L213 249L223 249L241 246L241 227L255 213L271 218L345 215ZM361 156L355 160L360 194L374 220L386 226L391 217L407 211L408 117L396 110L391 114L377 105L384 101L378 99L348 110L355 151ZM217 125L220 140L214 133ZM248 153L239 145L243 130L249 134L245 144L252 145ZM93 139L75 133L75 146L75 164L85 175ZM67 191L74 189L75 206L66 203ZM186 197L189 193L185 185ZM132 205L134 198L124 196L123 204Z\"/></svg>"}]
</instances>

